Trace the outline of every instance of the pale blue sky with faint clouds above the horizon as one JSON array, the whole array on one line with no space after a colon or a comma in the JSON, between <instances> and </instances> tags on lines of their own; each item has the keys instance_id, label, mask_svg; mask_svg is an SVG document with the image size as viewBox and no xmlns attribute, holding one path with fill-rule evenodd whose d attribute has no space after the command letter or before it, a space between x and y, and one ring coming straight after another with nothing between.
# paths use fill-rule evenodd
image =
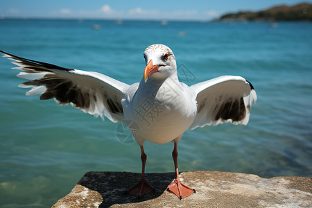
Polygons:
<instances>
[{"instance_id":1,"label":"pale blue sky with faint clouds above the horizon","mask_svg":"<svg viewBox=\"0 0 312 208\"><path fill-rule=\"evenodd\" d=\"M193 1L92 1L92 0L0 0L0 17L180 19L209 20L226 12L262 10L296 0L193 0ZM310 2L312 1L305 1Z\"/></svg>"}]
</instances>

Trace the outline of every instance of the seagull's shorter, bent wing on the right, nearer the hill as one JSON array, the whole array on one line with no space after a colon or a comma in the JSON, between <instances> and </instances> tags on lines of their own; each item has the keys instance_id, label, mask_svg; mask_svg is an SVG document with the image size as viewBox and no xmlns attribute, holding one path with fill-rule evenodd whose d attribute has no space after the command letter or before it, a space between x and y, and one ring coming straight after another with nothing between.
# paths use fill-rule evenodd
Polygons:
<instances>
[{"instance_id":1,"label":"seagull's shorter, bent wing on the right, nearer the hill","mask_svg":"<svg viewBox=\"0 0 312 208\"><path fill-rule=\"evenodd\" d=\"M197 115L190 129L232 122L246 125L252 103L256 103L254 87L241 76L220 76L191 89L196 92Z\"/></svg>"}]
</instances>

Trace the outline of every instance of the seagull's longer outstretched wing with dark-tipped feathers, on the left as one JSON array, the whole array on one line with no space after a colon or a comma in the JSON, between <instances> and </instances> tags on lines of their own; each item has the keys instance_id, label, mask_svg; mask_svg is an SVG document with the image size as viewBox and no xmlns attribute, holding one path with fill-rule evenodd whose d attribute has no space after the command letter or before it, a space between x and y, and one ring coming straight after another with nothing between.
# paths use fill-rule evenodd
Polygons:
<instances>
[{"instance_id":1,"label":"seagull's longer outstretched wing with dark-tipped feathers, on the left","mask_svg":"<svg viewBox=\"0 0 312 208\"><path fill-rule=\"evenodd\" d=\"M19 67L19 78L28 79L19 87L31 87L26 95L41 94L41 100L54 98L60 105L71 103L83 112L94 116L107 116L113 122L123 120L121 99L129 85L101 73L67 69L53 64L20 58L4 53L3 57L14 60Z\"/></svg>"}]
</instances>

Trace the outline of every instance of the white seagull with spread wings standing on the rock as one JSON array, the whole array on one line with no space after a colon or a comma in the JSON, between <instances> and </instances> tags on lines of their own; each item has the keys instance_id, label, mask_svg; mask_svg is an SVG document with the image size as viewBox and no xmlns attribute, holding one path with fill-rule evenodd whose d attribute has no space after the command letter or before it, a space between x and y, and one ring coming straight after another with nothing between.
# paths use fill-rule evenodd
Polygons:
<instances>
[{"instance_id":1,"label":"white seagull with spread wings standing on the rock","mask_svg":"<svg viewBox=\"0 0 312 208\"><path fill-rule=\"evenodd\" d=\"M191 85L180 83L173 51L163 44L153 44L144 51L146 67L140 83L128 85L93 71L68 69L54 64L20 58L14 60L27 79L19 87L31 88L27 96L40 94L40 100L54 98L59 105L73 107L110 121L125 122L141 148L141 180L128 193L141 197L153 187L145 172L144 141L154 144L174 143L172 152L175 180L167 190L185 198L196 192L182 184L177 168L177 144L183 133L205 125L233 123L246 125L251 105L256 103L254 87L241 76L220 76Z\"/></svg>"}]
</instances>

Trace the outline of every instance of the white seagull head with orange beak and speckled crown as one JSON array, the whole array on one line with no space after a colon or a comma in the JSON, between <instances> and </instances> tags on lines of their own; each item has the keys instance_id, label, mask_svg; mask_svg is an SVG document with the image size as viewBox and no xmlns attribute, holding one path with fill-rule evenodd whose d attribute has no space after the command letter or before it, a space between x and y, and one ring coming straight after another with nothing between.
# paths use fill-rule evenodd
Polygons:
<instances>
[{"instance_id":1,"label":"white seagull head with orange beak and speckled crown","mask_svg":"<svg viewBox=\"0 0 312 208\"><path fill-rule=\"evenodd\" d=\"M164 80L177 72L175 55L168 46L162 44L148 46L144 51L144 59L146 63L144 82L147 82L148 78Z\"/></svg>"}]
</instances>

